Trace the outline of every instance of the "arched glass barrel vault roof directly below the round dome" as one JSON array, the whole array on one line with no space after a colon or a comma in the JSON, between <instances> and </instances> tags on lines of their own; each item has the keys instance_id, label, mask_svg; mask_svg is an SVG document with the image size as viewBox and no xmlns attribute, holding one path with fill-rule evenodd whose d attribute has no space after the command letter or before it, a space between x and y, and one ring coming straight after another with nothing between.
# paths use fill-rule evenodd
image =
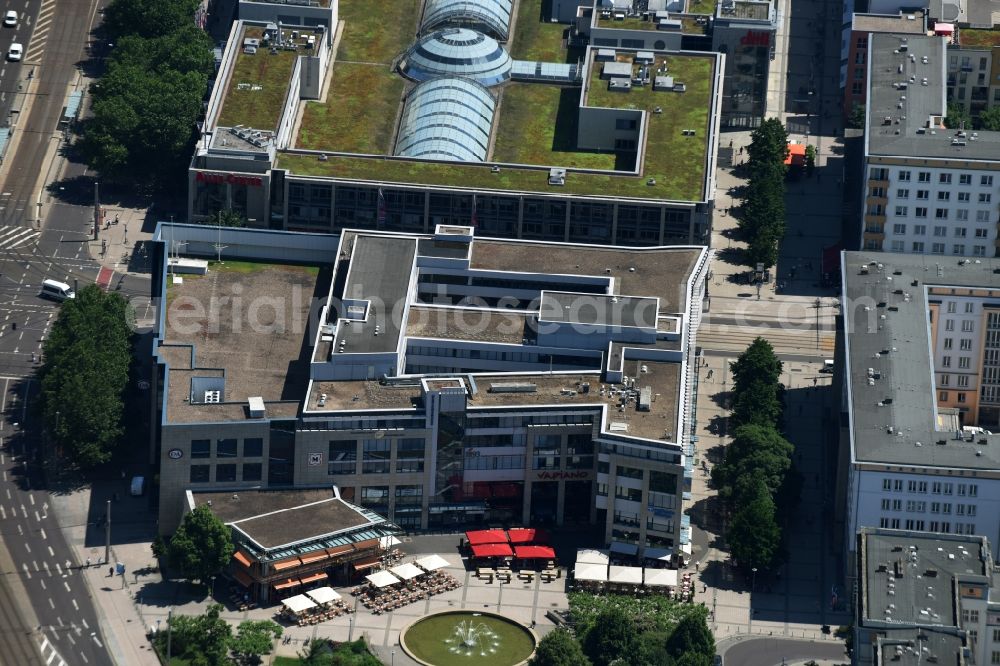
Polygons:
<instances>
[{"instance_id":1,"label":"arched glass barrel vault roof directly below the round dome","mask_svg":"<svg viewBox=\"0 0 1000 666\"><path fill-rule=\"evenodd\" d=\"M474 81L425 81L406 100L396 155L482 162L489 148L495 110L493 96Z\"/></svg>"}]
</instances>

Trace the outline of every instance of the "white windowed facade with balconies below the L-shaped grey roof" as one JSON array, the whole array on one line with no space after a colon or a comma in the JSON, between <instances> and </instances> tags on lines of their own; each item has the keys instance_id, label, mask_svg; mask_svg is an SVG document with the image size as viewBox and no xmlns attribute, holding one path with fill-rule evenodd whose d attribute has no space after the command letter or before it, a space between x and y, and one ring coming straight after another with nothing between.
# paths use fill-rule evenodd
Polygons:
<instances>
[{"instance_id":1,"label":"white windowed facade with balconies below the L-shaped grey roof","mask_svg":"<svg viewBox=\"0 0 1000 666\"><path fill-rule=\"evenodd\" d=\"M994 256L1000 174L985 169L929 167L914 160L906 166L871 165L868 176L865 212L885 215L885 234L881 245L869 237L865 249ZM880 203L883 197L885 203Z\"/></svg>"}]
</instances>

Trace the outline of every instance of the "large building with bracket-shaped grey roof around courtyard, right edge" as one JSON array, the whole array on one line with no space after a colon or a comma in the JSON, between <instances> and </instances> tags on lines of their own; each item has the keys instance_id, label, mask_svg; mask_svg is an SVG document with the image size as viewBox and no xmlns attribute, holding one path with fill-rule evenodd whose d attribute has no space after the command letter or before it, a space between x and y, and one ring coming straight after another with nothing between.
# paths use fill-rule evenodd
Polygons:
<instances>
[{"instance_id":1,"label":"large building with bracket-shaped grey roof around courtyard, right edge","mask_svg":"<svg viewBox=\"0 0 1000 666\"><path fill-rule=\"evenodd\" d=\"M864 527L1000 539L1000 260L848 252L841 465Z\"/></svg>"}]
</instances>

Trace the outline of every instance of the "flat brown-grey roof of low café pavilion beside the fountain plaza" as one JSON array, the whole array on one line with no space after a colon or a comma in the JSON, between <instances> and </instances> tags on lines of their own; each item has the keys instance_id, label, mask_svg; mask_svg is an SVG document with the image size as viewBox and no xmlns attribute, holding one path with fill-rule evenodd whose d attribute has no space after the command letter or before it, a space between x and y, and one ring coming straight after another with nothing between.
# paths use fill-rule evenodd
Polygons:
<instances>
[{"instance_id":1,"label":"flat brown-grey roof of low caf\u00e9 pavilion beside the fountain plaza","mask_svg":"<svg viewBox=\"0 0 1000 666\"><path fill-rule=\"evenodd\" d=\"M196 493L194 499L266 549L371 524L329 488Z\"/></svg>"}]
</instances>

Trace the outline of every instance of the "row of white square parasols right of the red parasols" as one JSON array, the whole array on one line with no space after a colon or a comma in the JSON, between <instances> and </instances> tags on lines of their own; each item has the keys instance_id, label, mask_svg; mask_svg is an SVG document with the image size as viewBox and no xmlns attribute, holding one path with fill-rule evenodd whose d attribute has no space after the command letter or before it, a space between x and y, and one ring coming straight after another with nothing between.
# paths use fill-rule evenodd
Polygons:
<instances>
[{"instance_id":1,"label":"row of white square parasols right of the red parasols","mask_svg":"<svg viewBox=\"0 0 1000 666\"><path fill-rule=\"evenodd\" d=\"M573 570L572 588L586 592L667 595L677 601L693 601L691 574L677 569L644 568L612 564L599 550L579 550Z\"/></svg>"}]
</instances>

